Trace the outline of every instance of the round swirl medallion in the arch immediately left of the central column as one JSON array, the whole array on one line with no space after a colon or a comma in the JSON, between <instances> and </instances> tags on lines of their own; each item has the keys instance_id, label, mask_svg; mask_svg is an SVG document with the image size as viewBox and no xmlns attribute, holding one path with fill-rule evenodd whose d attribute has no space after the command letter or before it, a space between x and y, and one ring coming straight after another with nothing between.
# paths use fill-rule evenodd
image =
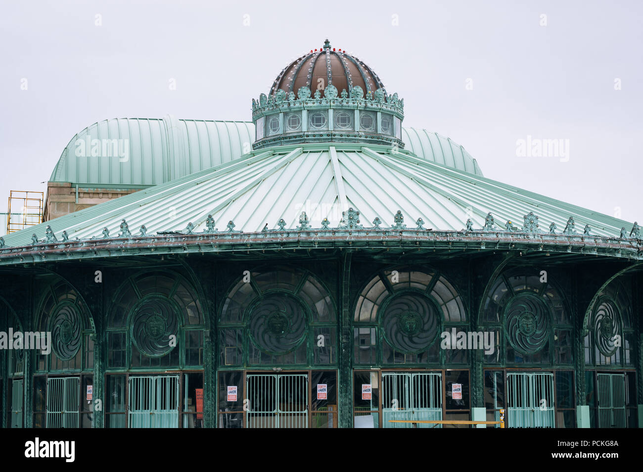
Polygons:
<instances>
[{"instance_id":1,"label":"round swirl medallion in the arch immediately left of the central column","mask_svg":"<svg viewBox=\"0 0 643 472\"><path fill-rule=\"evenodd\" d=\"M302 303L285 293L262 297L250 313L248 326L254 344L268 354L293 351L308 331Z\"/></svg>"}]
</instances>

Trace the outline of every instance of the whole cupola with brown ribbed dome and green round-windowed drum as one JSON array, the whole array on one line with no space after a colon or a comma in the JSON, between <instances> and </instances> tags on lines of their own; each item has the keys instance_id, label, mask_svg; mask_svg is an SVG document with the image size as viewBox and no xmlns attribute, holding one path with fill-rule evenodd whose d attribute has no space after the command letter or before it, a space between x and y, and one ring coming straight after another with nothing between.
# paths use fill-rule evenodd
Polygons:
<instances>
[{"instance_id":1,"label":"whole cupola with brown ribbed dome and green round-windowed drum","mask_svg":"<svg viewBox=\"0 0 643 472\"><path fill-rule=\"evenodd\" d=\"M284 67L266 96L252 100L253 148L350 142L403 148L404 100L341 49L314 49Z\"/></svg>"}]
</instances>

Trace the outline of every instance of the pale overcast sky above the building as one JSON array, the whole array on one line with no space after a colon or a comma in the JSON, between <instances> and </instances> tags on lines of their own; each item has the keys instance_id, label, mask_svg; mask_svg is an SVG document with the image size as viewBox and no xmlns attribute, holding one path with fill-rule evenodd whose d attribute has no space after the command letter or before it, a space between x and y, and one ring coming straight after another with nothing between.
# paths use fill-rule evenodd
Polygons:
<instances>
[{"instance_id":1,"label":"pale overcast sky above the building","mask_svg":"<svg viewBox=\"0 0 643 472\"><path fill-rule=\"evenodd\" d=\"M640 1L2 0L0 11L0 213L10 189L45 191L69 139L96 121L250 120L251 99L328 38L404 98L404 126L450 137L485 177L643 220ZM562 146L523 157L528 139Z\"/></svg>"}]
</instances>

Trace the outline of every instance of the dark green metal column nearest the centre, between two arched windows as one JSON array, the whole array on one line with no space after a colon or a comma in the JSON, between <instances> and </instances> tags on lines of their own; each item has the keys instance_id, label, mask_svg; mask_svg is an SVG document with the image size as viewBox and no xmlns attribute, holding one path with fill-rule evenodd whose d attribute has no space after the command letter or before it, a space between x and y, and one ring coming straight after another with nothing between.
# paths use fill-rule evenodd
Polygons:
<instances>
[{"instance_id":1,"label":"dark green metal column nearest the centre, between two arched windows","mask_svg":"<svg viewBox=\"0 0 643 472\"><path fill-rule=\"evenodd\" d=\"M338 408L340 428L352 428L352 333L350 332L350 261L351 252L345 251L340 263L340 338L338 379Z\"/></svg>"}]
</instances>

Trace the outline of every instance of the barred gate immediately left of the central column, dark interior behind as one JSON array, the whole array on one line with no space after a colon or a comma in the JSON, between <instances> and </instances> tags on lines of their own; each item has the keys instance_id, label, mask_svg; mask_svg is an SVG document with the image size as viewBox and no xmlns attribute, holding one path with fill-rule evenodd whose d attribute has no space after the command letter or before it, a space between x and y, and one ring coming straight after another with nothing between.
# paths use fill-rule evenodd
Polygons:
<instances>
[{"instance_id":1,"label":"barred gate immediately left of the central column, dark interior behind","mask_svg":"<svg viewBox=\"0 0 643 472\"><path fill-rule=\"evenodd\" d=\"M307 428L308 374L248 374L246 428Z\"/></svg>"}]
</instances>

